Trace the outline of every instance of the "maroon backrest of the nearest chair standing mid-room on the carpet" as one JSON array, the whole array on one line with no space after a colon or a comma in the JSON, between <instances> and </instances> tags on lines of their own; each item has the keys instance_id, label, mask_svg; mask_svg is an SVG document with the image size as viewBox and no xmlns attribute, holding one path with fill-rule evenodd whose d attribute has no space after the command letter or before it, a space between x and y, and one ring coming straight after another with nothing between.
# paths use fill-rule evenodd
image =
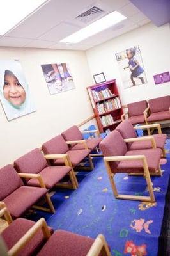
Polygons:
<instances>
[{"instance_id":1,"label":"maroon backrest of the nearest chair standing mid-room on the carpet","mask_svg":"<svg viewBox=\"0 0 170 256\"><path fill-rule=\"evenodd\" d=\"M104 156L124 156L127 152L127 145L120 134L114 130L109 133L99 144ZM119 162L110 162L112 172L116 171Z\"/></svg>"}]
</instances>

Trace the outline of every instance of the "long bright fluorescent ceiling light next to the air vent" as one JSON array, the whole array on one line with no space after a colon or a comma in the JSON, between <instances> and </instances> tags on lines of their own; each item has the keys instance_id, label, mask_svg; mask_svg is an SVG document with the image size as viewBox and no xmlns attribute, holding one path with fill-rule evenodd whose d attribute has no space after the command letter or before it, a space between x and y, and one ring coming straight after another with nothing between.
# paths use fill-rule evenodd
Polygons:
<instances>
[{"instance_id":1,"label":"long bright fluorescent ceiling light next to the air vent","mask_svg":"<svg viewBox=\"0 0 170 256\"><path fill-rule=\"evenodd\" d=\"M121 13L114 11L111 12L101 19L91 23L89 26L86 26L85 28L80 29L79 31L73 33L70 36L67 36L66 38L62 39L60 42L64 43L78 43L84 40L85 38L88 38L89 36L93 36L97 34L98 32L107 29L118 22L121 22L122 20L127 19L124 15Z\"/></svg>"}]
</instances>

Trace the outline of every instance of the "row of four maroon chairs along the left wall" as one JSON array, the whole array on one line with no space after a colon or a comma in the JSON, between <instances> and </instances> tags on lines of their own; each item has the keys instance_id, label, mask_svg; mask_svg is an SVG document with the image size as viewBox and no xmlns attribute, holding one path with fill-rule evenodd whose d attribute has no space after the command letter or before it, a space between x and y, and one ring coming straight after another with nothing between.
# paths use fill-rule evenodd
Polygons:
<instances>
[{"instance_id":1,"label":"row of four maroon chairs along the left wall","mask_svg":"<svg viewBox=\"0 0 170 256\"><path fill-rule=\"evenodd\" d=\"M93 132L98 134L98 131ZM12 218L22 216L42 196L45 196L49 209L38 205L34 207L55 212L49 190L56 184L77 189L79 184L74 169L85 157L89 159L89 167L86 169L93 169L90 153L101 140L99 137L83 140L81 131L74 125L43 143L42 150L35 148L16 159L13 165L8 164L1 168L0 200L7 205ZM70 178L70 183L60 184L66 175Z\"/></svg>"}]
</instances>

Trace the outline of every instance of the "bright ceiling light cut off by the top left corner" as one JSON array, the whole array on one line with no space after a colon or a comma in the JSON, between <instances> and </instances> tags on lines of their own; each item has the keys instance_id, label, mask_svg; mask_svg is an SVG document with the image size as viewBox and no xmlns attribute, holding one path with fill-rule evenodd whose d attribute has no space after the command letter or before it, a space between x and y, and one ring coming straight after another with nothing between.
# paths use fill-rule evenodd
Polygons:
<instances>
[{"instance_id":1,"label":"bright ceiling light cut off by the top left corner","mask_svg":"<svg viewBox=\"0 0 170 256\"><path fill-rule=\"evenodd\" d=\"M0 1L0 35L19 24L47 0L3 0Z\"/></svg>"}]
</instances>

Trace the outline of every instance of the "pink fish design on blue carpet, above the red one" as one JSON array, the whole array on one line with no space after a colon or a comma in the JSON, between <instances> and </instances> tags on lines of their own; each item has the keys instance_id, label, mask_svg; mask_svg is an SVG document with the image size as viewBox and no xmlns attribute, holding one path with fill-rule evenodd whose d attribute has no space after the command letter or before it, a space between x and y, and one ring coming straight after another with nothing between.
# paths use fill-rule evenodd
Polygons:
<instances>
[{"instance_id":1,"label":"pink fish design on blue carpet, above the red one","mask_svg":"<svg viewBox=\"0 0 170 256\"><path fill-rule=\"evenodd\" d=\"M149 225L151 223L153 223L153 220L148 220L146 222L144 222L145 220L140 218L138 220L132 220L130 227L135 229L136 232L141 232L143 229L146 233L151 234L150 230L149 230Z\"/></svg>"}]
</instances>

